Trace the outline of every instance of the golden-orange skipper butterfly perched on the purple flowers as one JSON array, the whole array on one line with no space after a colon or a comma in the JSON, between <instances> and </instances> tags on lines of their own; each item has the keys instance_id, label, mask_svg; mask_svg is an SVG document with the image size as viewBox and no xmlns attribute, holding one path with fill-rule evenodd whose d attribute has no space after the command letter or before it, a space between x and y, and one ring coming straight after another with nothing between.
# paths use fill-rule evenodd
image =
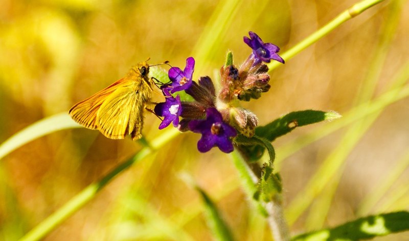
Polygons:
<instances>
[{"instance_id":1,"label":"golden-orange skipper butterfly perched on the purple flowers","mask_svg":"<svg viewBox=\"0 0 409 241\"><path fill-rule=\"evenodd\" d=\"M70 116L110 139L124 139L127 135L132 140L141 139L143 115L155 85L148 76L151 66L155 65L138 63L119 81L75 104Z\"/></svg>"}]
</instances>

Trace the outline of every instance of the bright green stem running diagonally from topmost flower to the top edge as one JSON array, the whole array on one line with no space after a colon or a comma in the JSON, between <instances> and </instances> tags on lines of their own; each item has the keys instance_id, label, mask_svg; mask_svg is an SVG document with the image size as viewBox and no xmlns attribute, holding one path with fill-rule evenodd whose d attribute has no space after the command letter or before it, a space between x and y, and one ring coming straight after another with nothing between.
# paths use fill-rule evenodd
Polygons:
<instances>
[{"instance_id":1,"label":"bright green stem running diagonally from topmost flower to the top edge","mask_svg":"<svg viewBox=\"0 0 409 241\"><path fill-rule=\"evenodd\" d=\"M296 44L296 46L290 48L286 52L284 52L282 55L280 55L285 61L290 60L292 57L296 56L297 53L301 52L311 44L315 43L316 41L320 40L322 37L326 36L329 34L331 31L336 29L340 24L346 22L347 20L359 15L363 11L369 9L370 7L382 2L384 0L363 0L359 3L354 4L352 7L348 8L344 12L340 13L338 16L336 16L334 19L332 19L329 23L327 23L325 26L323 26L321 29L317 30L307 38L305 38L303 41L299 42ZM273 69L277 68L280 66L281 63L277 61L272 61L269 63L268 66L268 71L271 72Z\"/></svg>"}]
</instances>

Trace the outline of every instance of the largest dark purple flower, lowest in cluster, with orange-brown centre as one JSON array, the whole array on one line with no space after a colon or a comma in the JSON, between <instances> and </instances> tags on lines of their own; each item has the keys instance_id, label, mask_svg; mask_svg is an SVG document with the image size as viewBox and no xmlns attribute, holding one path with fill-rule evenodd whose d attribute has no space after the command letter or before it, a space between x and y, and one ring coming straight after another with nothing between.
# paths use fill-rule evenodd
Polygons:
<instances>
[{"instance_id":1,"label":"largest dark purple flower, lowest in cluster, with orange-brown centre","mask_svg":"<svg viewBox=\"0 0 409 241\"><path fill-rule=\"evenodd\" d=\"M214 146L225 153L233 151L231 137L237 135L236 130L223 122L221 114L216 108L206 110L206 120L191 120L189 129L196 133L201 133L201 138L197 142L197 149L200 152L207 152Z\"/></svg>"}]
</instances>

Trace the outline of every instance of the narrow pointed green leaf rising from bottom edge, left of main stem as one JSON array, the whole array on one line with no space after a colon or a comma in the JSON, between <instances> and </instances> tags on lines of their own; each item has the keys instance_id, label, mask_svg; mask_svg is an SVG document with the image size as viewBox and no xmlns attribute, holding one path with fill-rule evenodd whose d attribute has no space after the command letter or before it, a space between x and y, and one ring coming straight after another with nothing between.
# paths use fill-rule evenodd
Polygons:
<instances>
[{"instance_id":1,"label":"narrow pointed green leaf rising from bottom edge, left of main stem","mask_svg":"<svg viewBox=\"0 0 409 241\"><path fill-rule=\"evenodd\" d=\"M199 192L200 196L202 197L203 204L205 204L205 211L206 211L208 224L210 226L210 229L212 229L215 235L215 239L223 240L223 241L224 240L234 240L229 227L224 222L224 220L221 218L216 205L213 203L210 197L205 193L205 191L200 189L198 186L196 186L196 190Z\"/></svg>"}]
</instances>

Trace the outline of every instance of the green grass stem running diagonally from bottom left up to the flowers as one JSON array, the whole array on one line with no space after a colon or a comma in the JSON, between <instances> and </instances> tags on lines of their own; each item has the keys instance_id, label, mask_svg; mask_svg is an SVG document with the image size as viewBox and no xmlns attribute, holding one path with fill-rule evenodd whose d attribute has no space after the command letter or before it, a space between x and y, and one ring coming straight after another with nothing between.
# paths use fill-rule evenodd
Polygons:
<instances>
[{"instance_id":1,"label":"green grass stem running diagonally from bottom left up to the flowers","mask_svg":"<svg viewBox=\"0 0 409 241\"><path fill-rule=\"evenodd\" d=\"M150 142L150 147L145 147L137 154L126 160L124 163L120 164L114 170L105 175L101 180L88 185L79 194L68 201L64 206L59 208L47 219L44 219L40 224L38 224L34 229L28 232L25 236L21 237L19 241L34 241L39 240L50 231L55 229L60 223L71 217L71 215L84 206L87 202L92 200L98 192L116 177L122 171L128 169L132 164L138 162L139 160L145 158L149 154L155 152L158 148L164 146L167 142L172 140L180 132L176 128L169 129L163 135L154 139Z\"/></svg>"}]
</instances>

